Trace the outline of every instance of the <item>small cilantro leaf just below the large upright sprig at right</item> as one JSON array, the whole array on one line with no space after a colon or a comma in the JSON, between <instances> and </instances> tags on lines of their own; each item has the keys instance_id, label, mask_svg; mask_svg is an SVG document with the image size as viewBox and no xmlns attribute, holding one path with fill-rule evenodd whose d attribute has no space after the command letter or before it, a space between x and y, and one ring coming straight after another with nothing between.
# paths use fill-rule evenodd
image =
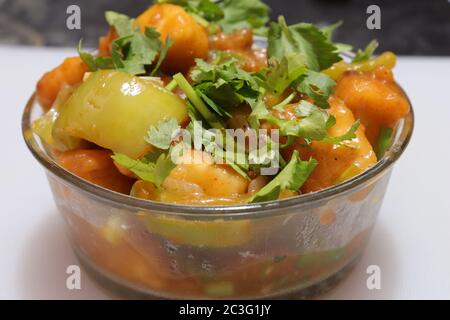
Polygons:
<instances>
[{"instance_id":1,"label":"small cilantro leaf just below the large upright sprig at right","mask_svg":"<svg viewBox=\"0 0 450 320\"><path fill-rule=\"evenodd\" d=\"M328 75L308 70L298 81L297 90L312 98L321 108L328 108L328 98L336 82Z\"/></svg>"}]
</instances>

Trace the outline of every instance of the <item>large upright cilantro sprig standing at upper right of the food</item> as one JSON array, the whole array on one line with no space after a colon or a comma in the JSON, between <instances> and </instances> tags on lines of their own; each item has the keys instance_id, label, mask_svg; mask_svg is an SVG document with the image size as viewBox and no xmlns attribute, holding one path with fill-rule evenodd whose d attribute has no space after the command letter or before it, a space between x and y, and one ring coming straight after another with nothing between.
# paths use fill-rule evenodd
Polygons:
<instances>
[{"instance_id":1,"label":"large upright cilantro sprig standing at upper right of the food","mask_svg":"<svg viewBox=\"0 0 450 320\"><path fill-rule=\"evenodd\" d=\"M336 83L320 70L341 60L330 33L307 23L287 26L283 17L278 23L271 23L270 65L260 72L266 88L280 95L292 87L312 98L319 107L328 108L328 97Z\"/></svg>"}]
</instances>

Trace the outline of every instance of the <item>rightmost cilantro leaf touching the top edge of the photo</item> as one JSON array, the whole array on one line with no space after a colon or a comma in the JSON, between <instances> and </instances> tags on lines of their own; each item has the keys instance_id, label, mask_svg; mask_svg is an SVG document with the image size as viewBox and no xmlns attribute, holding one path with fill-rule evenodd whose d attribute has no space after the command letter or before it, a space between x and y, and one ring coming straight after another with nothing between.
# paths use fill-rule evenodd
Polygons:
<instances>
[{"instance_id":1,"label":"rightmost cilantro leaf touching the top edge of the photo","mask_svg":"<svg viewBox=\"0 0 450 320\"><path fill-rule=\"evenodd\" d=\"M223 32L251 28L255 33L262 33L269 21L269 7L260 0L225 0L219 3L224 18L218 21Z\"/></svg>"}]
</instances>

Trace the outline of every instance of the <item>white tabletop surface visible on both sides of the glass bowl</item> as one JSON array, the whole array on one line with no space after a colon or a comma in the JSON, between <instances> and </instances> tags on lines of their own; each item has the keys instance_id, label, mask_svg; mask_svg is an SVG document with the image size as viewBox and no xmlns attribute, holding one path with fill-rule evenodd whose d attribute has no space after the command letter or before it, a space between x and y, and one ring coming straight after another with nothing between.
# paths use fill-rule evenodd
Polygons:
<instances>
[{"instance_id":1,"label":"white tabletop surface visible on both sides of the glass bowl","mask_svg":"<svg viewBox=\"0 0 450 320\"><path fill-rule=\"evenodd\" d=\"M0 298L105 299L82 273L44 172L25 147L20 117L44 71L71 49L0 46ZM397 163L369 246L330 299L450 299L450 57L401 57L397 80L416 113L412 142ZM381 289L368 290L366 268L381 268Z\"/></svg>"}]
</instances>

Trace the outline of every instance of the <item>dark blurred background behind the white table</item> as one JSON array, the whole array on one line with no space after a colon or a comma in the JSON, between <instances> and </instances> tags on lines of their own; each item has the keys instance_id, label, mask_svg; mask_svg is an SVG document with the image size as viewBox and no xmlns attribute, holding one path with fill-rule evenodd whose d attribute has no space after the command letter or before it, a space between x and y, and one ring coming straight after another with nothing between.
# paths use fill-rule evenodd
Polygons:
<instances>
[{"instance_id":1,"label":"dark blurred background behind the white table","mask_svg":"<svg viewBox=\"0 0 450 320\"><path fill-rule=\"evenodd\" d=\"M242 0L245 1L245 0ZM35 46L76 46L82 37L85 46L95 47L106 33L105 10L136 16L152 0L0 0L0 44ZM298 21L329 24L344 20L335 39L355 47L371 39L380 50L407 55L450 55L450 0L265 0L271 17L286 16ZM81 8L81 30L66 28L66 8ZM381 8L381 30L366 28L366 9Z\"/></svg>"}]
</instances>

